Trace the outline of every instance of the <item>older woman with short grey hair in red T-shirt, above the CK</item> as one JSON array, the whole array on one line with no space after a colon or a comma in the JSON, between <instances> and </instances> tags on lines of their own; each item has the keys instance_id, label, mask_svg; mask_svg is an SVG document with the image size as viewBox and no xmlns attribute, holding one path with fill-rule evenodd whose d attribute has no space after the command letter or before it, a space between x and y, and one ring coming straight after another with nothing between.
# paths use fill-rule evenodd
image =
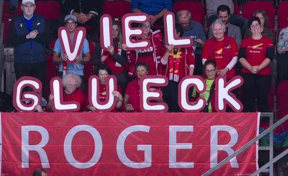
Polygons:
<instances>
[{"instance_id":1,"label":"older woman with short grey hair in red T-shirt, above the CK","mask_svg":"<svg viewBox=\"0 0 288 176\"><path fill-rule=\"evenodd\" d=\"M217 63L218 76L231 79L236 76L235 64L238 61L238 46L233 37L225 34L225 24L216 19L212 25L213 38L207 40L202 51L202 63L214 59Z\"/></svg>"}]
</instances>

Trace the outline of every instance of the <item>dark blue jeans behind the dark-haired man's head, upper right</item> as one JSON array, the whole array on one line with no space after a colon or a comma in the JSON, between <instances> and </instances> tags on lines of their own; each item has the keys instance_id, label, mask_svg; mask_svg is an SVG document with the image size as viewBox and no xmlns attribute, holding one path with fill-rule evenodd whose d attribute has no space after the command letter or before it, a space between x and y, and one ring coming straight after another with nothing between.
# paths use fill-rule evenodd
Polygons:
<instances>
[{"instance_id":1,"label":"dark blue jeans behind the dark-haired man's head, upper right","mask_svg":"<svg viewBox=\"0 0 288 176\"><path fill-rule=\"evenodd\" d=\"M208 22L209 24L211 25L213 23L213 21L215 19L217 19L217 14L214 14L214 15L211 15L208 17ZM245 34L245 31L247 29L247 23L248 23L248 19L244 18L244 17L241 17L241 16L238 16L238 15L233 15L231 14L230 15L230 18L229 18L229 22L231 24L234 24L236 26L239 26L240 27L240 30L241 30L241 35L242 37L244 36Z\"/></svg>"}]
</instances>

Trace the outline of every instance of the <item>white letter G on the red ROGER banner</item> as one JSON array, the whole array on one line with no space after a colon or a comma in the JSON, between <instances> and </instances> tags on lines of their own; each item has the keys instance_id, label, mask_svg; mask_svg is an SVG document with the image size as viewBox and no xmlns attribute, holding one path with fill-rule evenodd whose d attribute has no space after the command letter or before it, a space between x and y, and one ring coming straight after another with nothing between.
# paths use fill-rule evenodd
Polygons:
<instances>
[{"instance_id":1,"label":"white letter G on the red ROGER banner","mask_svg":"<svg viewBox=\"0 0 288 176\"><path fill-rule=\"evenodd\" d=\"M151 152L152 146L151 145L137 145L138 151L144 151L144 162L131 161L125 154L125 150L124 150L125 139L127 138L129 134L136 132L136 131L144 131L148 133L149 130L150 130L149 126L134 125L134 126L127 127L121 132L121 134L119 135L117 139L117 155L120 161L124 165L130 168L136 168L136 169L151 167L151 162L152 162L152 152Z\"/></svg>"}]
</instances>

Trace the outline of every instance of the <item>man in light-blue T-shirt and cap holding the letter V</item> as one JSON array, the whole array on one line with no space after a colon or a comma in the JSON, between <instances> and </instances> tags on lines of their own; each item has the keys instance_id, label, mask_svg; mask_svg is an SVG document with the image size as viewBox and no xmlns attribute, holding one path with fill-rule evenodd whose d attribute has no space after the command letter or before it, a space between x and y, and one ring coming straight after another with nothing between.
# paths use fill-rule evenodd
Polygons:
<instances>
[{"instance_id":1,"label":"man in light-blue T-shirt and cap holding the letter V","mask_svg":"<svg viewBox=\"0 0 288 176\"><path fill-rule=\"evenodd\" d=\"M71 42L73 42L74 33L77 27L76 16L66 15L64 23L65 23L65 27L67 27L69 31ZM63 55L63 51L61 49L59 39L56 40L53 51L54 51L53 62L59 64L59 77L62 78L62 76L64 76L66 73L73 73L73 74L79 75L82 79L82 84L80 86L80 89L83 92L86 92L84 79L83 79L83 75L84 75L83 63L87 63L90 61L90 50L89 50L88 40L87 39L84 40L80 55L75 57L75 60L76 60L75 63L66 63L68 56Z\"/></svg>"}]
</instances>

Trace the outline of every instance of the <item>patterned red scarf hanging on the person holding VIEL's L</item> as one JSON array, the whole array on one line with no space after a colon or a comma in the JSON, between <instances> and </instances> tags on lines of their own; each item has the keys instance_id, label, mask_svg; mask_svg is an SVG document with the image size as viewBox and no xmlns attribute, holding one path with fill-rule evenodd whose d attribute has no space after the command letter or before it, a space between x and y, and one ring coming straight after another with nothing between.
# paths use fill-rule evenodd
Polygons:
<instances>
[{"instance_id":1,"label":"patterned red scarf hanging on the person holding VIEL's L","mask_svg":"<svg viewBox=\"0 0 288 176\"><path fill-rule=\"evenodd\" d=\"M174 51L177 51L177 54L174 55ZM173 80L175 82L179 81L179 63L180 63L180 55L182 51L181 48L174 48L171 50L168 58L169 62L169 80Z\"/></svg>"}]
</instances>

